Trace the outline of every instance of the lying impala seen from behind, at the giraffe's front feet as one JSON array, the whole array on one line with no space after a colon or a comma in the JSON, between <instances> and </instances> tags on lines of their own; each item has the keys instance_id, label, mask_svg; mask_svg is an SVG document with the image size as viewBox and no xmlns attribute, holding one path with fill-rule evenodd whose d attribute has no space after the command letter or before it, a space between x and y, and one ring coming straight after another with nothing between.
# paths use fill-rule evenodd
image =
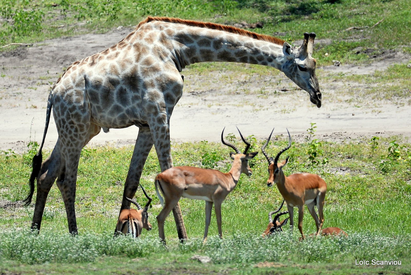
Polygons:
<instances>
[{"instance_id":1,"label":"lying impala seen from behind, at the giraffe's front feet","mask_svg":"<svg viewBox=\"0 0 411 275\"><path fill-rule=\"evenodd\" d=\"M148 206L151 203L151 198L145 193L143 186L141 189L144 192L145 197L148 199L148 202L145 204L144 209L136 202L136 200L132 200L130 198L126 199L134 203L137 206L138 210L128 208L123 209L120 212L120 217L118 217L117 226L115 227L115 234L119 235L120 233L127 234L131 233L134 238L137 238L141 235L141 231L143 228L150 231L152 229L150 222L148 221Z\"/></svg>"}]
</instances>

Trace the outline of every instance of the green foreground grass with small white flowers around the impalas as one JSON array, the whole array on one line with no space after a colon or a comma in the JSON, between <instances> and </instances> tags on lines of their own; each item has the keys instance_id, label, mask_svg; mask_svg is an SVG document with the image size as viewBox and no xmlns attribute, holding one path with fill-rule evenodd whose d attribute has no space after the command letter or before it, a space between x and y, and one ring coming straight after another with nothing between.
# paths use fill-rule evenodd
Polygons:
<instances>
[{"instance_id":1,"label":"green foreground grass with small white flowers around the impalas","mask_svg":"<svg viewBox=\"0 0 411 275\"><path fill-rule=\"evenodd\" d=\"M249 138L253 143L251 150L259 150L263 141L252 136ZM298 242L297 230L292 234L284 232L261 238L260 234L268 222L268 212L278 207L282 199L275 187L269 189L266 186L267 164L264 156L259 154L250 161L253 176L242 177L222 205L223 240L217 238L213 214L209 238L203 245L204 203L182 199L180 205L189 240L182 245L178 242L170 215L165 226L168 245L163 247L157 239L155 219L161 207L153 186L153 179L159 172L154 150L150 152L141 177L141 184L153 197L149 219L154 229L144 231L138 240L127 236L113 238L131 147L83 149L76 193L79 235L67 233L64 205L55 186L48 196L42 231L37 235L28 230L33 205L19 207L12 202L23 199L28 193L30 158L38 144L30 144L22 155L5 151L0 156L0 169L7 171L0 175L0 201L9 202L11 206L0 208L0 270L9 272L5 274L30 273L29 270L40 270L40 273L41 270L65 270L69 273L77 266L81 269L80 274L94 269L103 274L117 274L118 271L113 271L110 265L107 270L99 268L108 261L113 266L115 263L127 263L121 272L129 270L131 264L139 267L142 274L152 270L181 273L187 266L192 274L220 269L228 274L239 274L245 270L258 274L262 270L273 272L279 265L284 274L293 274L292 268L296 266L304 266L308 274L318 273L321 266L335 274L368 274L375 270L371 271L368 266L355 266L356 259L393 259L401 260L402 265L379 266L377 269L387 274L396 274L399 270L409 272L410 145L397 141L401 140L399 137L374 137L342 143L315 139L321 143L316 148L316 159L319 163L325 158L328 160L326 165L319 165L307 155L312 150L313 138L294 143L285 153L290 160L284 172L287 175L291 172L314 172L326 180L324 227L338 226L349 234L348 238L309 238ZM240 144L239 138L233 134L229 134L227 139ZM279 137L274 140L266 149L270 155L286 145L286 141ZM206 141L172 146L174 165L205 166L225 171L231 165L228 151L220 144ZM144 203L142 198L137 196L137 201ZM315 231L314 221L307 211L304 231ZM191 259L194 254L209 256L212 264L201 268L201 263ZM164 266L170 262L171 266ZM143 268L147 263L152 263L152 268Z\"/></svg>"}]
</instances>

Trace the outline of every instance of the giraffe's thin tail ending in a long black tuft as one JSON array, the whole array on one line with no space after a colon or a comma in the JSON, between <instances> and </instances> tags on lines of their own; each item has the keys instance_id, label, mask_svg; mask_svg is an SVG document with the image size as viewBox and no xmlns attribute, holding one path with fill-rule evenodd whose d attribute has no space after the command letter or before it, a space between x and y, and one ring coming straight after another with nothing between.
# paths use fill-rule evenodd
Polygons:
<instances>
[{"instance_id":1,"label":"giraffe's thin tail ending in a long black tuft","mask_svg":"<svg viewBox=\"0 0 411 275\"><path fill-rule=\"evenodd\" d=\"M53 106L53 89L51 89L50 93L48 94L48 100L47 100L47 112L46 112L46 126L44 127L44 134L43 134L43 140L42 144L40 145L40 149L37 154L33 157L32 160L32 165L33 165L33 170L30 175L30 193L28 194L27 198L23 200L24 205L27 206L31 203L33 193L34 193L34 181L37 178L37 175L39 175L40 169L42 168L42 160L43 160L43 155L42 155L42 149L44 145L44 140L46 140L46 133L48 129L48 123L50 122L50 116L51 116L51 107Z\"/></svg>"}]
</instances>

